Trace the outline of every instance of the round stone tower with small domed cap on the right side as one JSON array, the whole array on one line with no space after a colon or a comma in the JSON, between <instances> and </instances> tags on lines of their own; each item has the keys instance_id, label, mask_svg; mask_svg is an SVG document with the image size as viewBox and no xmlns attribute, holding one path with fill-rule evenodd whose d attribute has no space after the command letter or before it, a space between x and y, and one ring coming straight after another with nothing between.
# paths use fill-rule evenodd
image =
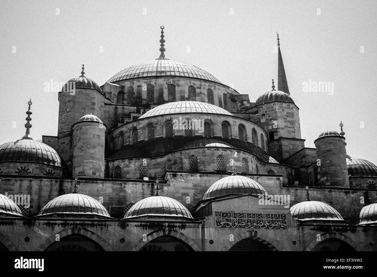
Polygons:
<instances>
[{"instance_id":1,"label":"round stone tower with small domed cap on the right side","mask_svg":"<svg viewBox=\"0 0 377 277\"><path fill-rule=\"evenodd\" d=\"M345 138L338 132L322 132L314 141L320 186L348 187Z\"/></svg>"}]
</instances>

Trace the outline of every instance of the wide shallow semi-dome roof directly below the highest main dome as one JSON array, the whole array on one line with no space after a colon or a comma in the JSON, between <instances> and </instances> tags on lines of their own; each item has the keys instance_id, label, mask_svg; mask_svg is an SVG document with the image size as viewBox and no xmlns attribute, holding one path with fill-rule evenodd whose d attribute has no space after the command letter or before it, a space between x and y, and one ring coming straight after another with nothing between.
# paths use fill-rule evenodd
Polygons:
<instances>
[{"instance_id":1,"label":"wide shallow semi-dome roof directly below the highest main dome","mask_svg":"<svg viewBox=\"0 0 377 277\"><path fill-rule=\"evenodd\" d=\"M162 104L144 113L139 118L155 115L170 115L173 113L216 113L219 115L232 115L227 110L218 106L199 101L178 101Z\"/></svg>"}]
</instances>

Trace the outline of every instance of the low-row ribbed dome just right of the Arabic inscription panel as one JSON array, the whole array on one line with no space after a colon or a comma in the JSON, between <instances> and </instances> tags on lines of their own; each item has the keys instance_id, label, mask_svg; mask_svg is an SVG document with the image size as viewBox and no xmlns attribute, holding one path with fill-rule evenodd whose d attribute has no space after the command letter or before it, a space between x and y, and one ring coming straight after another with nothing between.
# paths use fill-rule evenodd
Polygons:
<instances>
[{"instance_id":1,"label":"low-row ribbed dome just right of the Arabic inscription panel","mask_svg":"<svg viewBox=\"0 0 377 277\"><path fill-rule=\"evenodd\" d=\"M319 201L304 201L291 207L291 215L300 220L343 220L330 205Z\"/></svg>"}]
</instances>

